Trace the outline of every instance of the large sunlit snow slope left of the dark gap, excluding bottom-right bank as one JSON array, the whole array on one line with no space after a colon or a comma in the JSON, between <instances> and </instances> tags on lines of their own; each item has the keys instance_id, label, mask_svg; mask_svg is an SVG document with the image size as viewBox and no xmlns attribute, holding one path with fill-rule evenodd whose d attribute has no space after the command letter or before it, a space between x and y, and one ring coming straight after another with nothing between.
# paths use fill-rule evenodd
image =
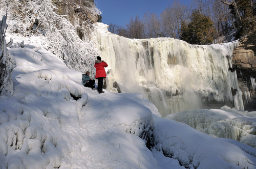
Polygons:
<instances>
[{"instance_id":1,"label":"large sunlit snow slope left of the dark gap, excluding bottom-right bank","mask_svg":"<svg viewBox=\"0 0 256 169\"><path fill-rule=\"evenodd\" d=\"M102 98L107 93L98 95L81 85L81 72L35 47L25 40L24 48L9 49L17 68L14 95L0 102L2 168L159 168L138 137L151 125L152 112L147 107L160 116L155 105L141 94L110 93ZM88 124L90 115L84 117L88 110L95 112L94 118L103 117ZM99 143L95 135L101 138Z\"/></svg>"}]
</instances>

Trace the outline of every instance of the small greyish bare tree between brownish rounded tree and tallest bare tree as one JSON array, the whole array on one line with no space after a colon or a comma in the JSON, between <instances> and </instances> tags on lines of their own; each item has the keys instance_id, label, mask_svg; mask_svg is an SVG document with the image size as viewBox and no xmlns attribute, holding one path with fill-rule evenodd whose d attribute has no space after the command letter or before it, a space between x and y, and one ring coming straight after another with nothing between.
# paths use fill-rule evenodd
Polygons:
<instances>
[{"instance_id":1,"label":"small greyish bare tree between brownish rounded tree and tallest bare tree","mask_svg":"<svg viewBox=\"0 0 256 169\"><path fill-rule=\"evenodd\" d=\"M157 38L161 35L161 23L156 13L145 13L145 31L147 38Z\"/></svg>"}]
</instances>

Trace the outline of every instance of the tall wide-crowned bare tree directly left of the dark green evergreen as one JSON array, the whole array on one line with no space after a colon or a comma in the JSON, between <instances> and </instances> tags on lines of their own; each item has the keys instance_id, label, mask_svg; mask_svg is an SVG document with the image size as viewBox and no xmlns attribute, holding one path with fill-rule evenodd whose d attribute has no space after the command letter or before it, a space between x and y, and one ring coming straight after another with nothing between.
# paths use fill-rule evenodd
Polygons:
<instances>
[{"instance_id":1,"label":"tall wide-crowned bare tree directly left of the dark green evergreen","mask_svg":"<svg viewBox=\"0 0 256 169\"><path fill-rule=\"evenodd\" d=\"M160 14L165 36L180 39L181 23L188 20L190 11L190 8L180 1L174 1L172 6L165 8Z\"/></svg>"}]
</instances>

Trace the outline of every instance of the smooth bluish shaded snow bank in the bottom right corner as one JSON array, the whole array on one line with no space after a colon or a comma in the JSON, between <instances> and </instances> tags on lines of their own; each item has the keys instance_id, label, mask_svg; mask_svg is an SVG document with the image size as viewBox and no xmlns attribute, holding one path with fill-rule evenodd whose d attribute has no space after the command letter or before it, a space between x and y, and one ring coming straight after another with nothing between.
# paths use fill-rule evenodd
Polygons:
<instances>
[{"instance_id":1,"label":"smooth bluish shaded snow bank in the bottom right corner","mask_svg":"<svg viewBox=\"0 0 256 169\"><path fill-rule=\"evenodd\" d=\"M238 146L179 122L159 117L153 119L155 148L163 151L165 156L179 160L186 168L256 168L256 158Z\"/></svg>"}]
</instances>

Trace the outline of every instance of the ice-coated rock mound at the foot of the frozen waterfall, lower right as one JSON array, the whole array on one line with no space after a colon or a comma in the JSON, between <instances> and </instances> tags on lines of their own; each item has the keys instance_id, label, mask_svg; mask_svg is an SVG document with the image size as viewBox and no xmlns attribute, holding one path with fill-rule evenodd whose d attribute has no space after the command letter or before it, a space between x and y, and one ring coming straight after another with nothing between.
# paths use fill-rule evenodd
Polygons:
<instances>
[{"instance_id":1,"label":"ice-coated rock mound at the foot of the frozen waterfall, lower right","mask_svg":"<svg viewBox=\"0 0 256 169\"><path fill-rule=\"evenodd\" d=\"M185 123L213 137L230 138L256 148L256 112L200 109L177 112L167 119Z\"/></svg>"}]
</instances>

